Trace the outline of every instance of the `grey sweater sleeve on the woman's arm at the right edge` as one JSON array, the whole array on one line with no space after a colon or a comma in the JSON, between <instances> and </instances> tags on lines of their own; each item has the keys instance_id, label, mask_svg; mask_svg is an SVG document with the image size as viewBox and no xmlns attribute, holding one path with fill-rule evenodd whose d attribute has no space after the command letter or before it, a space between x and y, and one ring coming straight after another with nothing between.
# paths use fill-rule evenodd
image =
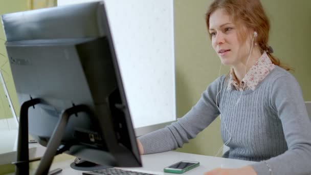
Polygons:
<instances>
[{"instance_id":1,"label":"grey sweater sleeve on the woman's arm at the right edge","mask_svg":"<svg viewBox=\"0 0 311 175\"><path fill-rule=\"evenodd\" d=\"M292 75L278 77L272 84L271 107L282 122L288 150L252 167L258 175L270 174L269 167L274 175L310 174L311 121L300 86Z\"/></svg>"}]
</instances>

